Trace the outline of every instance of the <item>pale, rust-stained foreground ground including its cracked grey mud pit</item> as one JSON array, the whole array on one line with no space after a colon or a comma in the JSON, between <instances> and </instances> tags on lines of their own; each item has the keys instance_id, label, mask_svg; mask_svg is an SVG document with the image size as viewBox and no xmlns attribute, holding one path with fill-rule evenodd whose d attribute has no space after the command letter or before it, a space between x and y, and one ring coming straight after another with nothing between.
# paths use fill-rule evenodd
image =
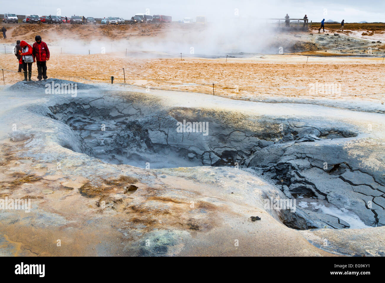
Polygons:
<instances>
[{"instance_id":1,"label":"pale, rust-stained foreground ground including its cracked grey mud pit","mask_svg":"<svg viewBox=\"0 0 385 283\"><path fill-rule=\"evenodd\" d=\"M383 255L381 104L52 81L1 92L1 198L31 200L1 211L3 255Z\"/></svg>"}]
</instances>

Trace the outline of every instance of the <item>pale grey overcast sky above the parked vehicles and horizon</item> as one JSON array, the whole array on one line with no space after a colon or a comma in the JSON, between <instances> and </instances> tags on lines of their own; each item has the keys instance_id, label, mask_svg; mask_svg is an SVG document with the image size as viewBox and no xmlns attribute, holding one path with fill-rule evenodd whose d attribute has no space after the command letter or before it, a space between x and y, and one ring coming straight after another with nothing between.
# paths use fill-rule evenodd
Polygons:
<instances>
[{"instance_id":1,"label":"pale grey overcast sky above the parked vehicles and horizon","mask_svg":"<svg viewBox=\"0 0 385 283\"><path fill-rule=\"evenodd\" d=\"M266 3L267 2L267 3ZM2 12L25 15L56 15L60 9L62 16L84 15L85 17L131 18L135 13L169 15L172 20L184 17L207 16L208 21L218 18L239 17L283 18L286 13L291 18L303 18L320 22L335 20L340 22L385 22L385 0L32 0L28 5L15 5L14 1L2 1ZM237 10L236 10L237 9Z\"/></svg>"}]
</instances>

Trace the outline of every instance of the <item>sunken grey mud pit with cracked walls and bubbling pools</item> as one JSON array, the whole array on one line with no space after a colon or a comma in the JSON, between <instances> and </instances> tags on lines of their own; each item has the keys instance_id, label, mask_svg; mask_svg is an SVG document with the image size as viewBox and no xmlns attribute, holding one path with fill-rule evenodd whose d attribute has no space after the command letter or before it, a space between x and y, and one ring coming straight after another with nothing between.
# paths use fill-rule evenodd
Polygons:
<instances>
[{"instance_id":1,"label":"sunken grey mud pit with cracked walls and bubbling pools","mask_svg":"<svg viewBox=\"0 0 385 283\"><path fill-rule=\"evenodd\" d=\"M83 97L49 106L46 116L69 126L80 143L76 149L65 147L107 163L147 169L248 168L287 198L296 199L296 212L284 210L281 215L291 228L367 228L385 223L383 183L358 166L344 147L362 134L352 124L223 109L154 109L135 95ZM182 121L207 125L207 132L188 127L180 132L177 125Z\"/></svg>"}]
</instances>

